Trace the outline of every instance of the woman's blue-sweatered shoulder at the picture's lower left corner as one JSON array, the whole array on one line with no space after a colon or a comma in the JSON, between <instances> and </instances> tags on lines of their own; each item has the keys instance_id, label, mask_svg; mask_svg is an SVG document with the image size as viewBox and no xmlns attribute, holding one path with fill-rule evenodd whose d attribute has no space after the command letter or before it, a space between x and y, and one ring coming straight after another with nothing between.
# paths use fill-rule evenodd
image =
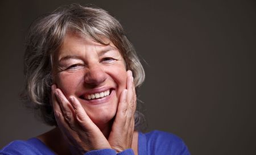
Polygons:
<instances>
[{"instance_id":1,"label":"woman's blue-sweatered shoulder at the picture's lower left corner","mask_svg":"<svg viewBox=\"0 0 256 155\"><path fill-rule=\"evenodd\" d=\"M29 140L15 140L12 141L10 144L4 146L0 150L0 154L7 155L7 154L44 154L42 153L43 145L40 144L41 142L38 139L29 139ZM46 150L44 150L46 152Z\"/></svg>"}]
</instances>

